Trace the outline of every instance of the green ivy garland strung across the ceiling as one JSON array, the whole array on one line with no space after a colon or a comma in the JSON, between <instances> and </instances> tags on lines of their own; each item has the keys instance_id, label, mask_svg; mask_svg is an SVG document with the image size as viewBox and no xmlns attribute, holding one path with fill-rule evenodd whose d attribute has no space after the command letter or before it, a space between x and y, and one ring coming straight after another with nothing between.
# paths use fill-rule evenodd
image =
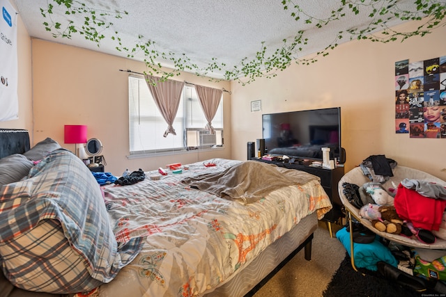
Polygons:
<instances>
[{"instance_id":1,"label":"green ivy garland strung across the ceiling","mask_svg":"<svg viewBox=\"0 0 446 297\"><path fill-rule=\"evenodd\" d=\"M199 67L197 64L192 63L186 54L159 51L154 40L147 39L142 35L137 37L138 41L133 47L125 47L117 31L114 31L109 38L117 42L116 50L126 53L128 58L133 58L135 54L142 51L145 57L144 63L146 63L148 68L147 74L156 74L162 77L162 79L169 79L169 77L179 75L180 71L193 72L198 76L206 77L214 71L221 72L224 70L224 79L235 80L245 85L255 81L258 77L275 77L278 70L285 70L291 63L303 65L315 63L318 61L318 57L328 55L332 49L337 47L339 40L344 38L344 35L349 35L351 40L371 40L373 42L403 41L412 36L424 36L438 26L446 25L443 22L443 19L446 17L445 1L415 0L416 9L413 11L400 9L398 2L399 0L340 0L339 8L332 10L329 17L317 19L302 10L295 1L281 0L280 3L282 3L284 10L289 11L290 16L296 22L303 20L306 24L314 24L317 28L322 28L331 22L341 19L347 12L351 11L357 15L362 9L366 8L367 11L371 10L371 13L368 15L370 22L365 28L339 31L330 45L322 51L318 51L312 58L307 59L299 57L299 53L309 42L309 39L305 37L305 31L297 31L293 38L282 40L282 46L273 49L273 51L266 47L265 42L261 42L260 50L256 52L254 58L243 58L231 70L225 70L227 65L220 63L217 58L212 58L212 62L208 63L206 67ZM277 0L277 3L279 5L279 0ZM64 13L67 15L66 24L53 21L52 15L56 5L57 9L65 10ZM104 32L107 29L113 29L113 23L106 19L121 19L128 15L126 11L107 11L91 8L80 0L47 0L47 7L40 8L40 13L48 20L43 25L47 31L52 32L54 38L72 38L72 35L80 34L86 40L95 42L98 47L101 40L106 38ZM84 23L75 24L70 20L70 15L82 15ZM394 29L387 26L394 19L420 21L420 25L415 31L411 32L394 31ZM377 31L380 31L380 34L374 35L374 32ZM272 52L272 54L268 55L267 52ZM162 67L160 61L173 63L173 69L166 70L166 68ZM219 81L220 79L210 78L210 80Z\"/></svg>"}]
</instances>

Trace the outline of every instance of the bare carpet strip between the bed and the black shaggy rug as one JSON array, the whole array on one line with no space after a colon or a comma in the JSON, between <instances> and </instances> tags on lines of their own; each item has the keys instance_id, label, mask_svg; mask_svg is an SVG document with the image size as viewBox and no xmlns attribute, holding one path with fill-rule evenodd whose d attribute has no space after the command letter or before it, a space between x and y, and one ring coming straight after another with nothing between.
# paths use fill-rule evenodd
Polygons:
<instances>
[{"instance_id":1,"label":"bare carpet strip between the bed and the black shaggy rug","mask_svg":"<svg viewBox=\"0 0 446 297\"><path fill-rule=\"evenodd\" d=\"M340 225L332 224L333 236L340 228ZM342 243L330 237L327 223L319 221L314 232L312 260L305 260L304 250L300 250L254 297L322 296L345 255Z\"/></svg>"}]
</instances>

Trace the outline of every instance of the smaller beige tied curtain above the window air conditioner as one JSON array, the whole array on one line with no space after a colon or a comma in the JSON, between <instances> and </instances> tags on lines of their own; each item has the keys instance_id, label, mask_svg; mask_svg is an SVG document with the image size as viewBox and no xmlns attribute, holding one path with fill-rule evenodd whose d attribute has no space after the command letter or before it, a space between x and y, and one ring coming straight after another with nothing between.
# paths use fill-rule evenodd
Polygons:
<instances>
[{"instance_id":1,"label":"smaller beige tied curtain above the window air conditioner","mask_svg":"<svg viewBox=\"0 0 446 297\"><path fill-rule=\"evenodd\" d=\"M215 113L217 113L220 99L222 99L223 90L198 85L195 85L195 90L197 90L201 109L203 109L204 116L208 121L208 124L206 124L206 129L208 129L211 134L215 134L214 128L212 127L212 120L215 117Z\"/></svg>"}]
</instances>

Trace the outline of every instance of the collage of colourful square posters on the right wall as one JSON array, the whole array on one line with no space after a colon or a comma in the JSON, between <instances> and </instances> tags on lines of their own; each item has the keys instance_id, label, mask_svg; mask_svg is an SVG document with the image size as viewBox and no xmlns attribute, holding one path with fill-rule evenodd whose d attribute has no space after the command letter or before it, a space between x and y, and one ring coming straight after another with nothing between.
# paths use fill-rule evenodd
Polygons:
<instances>
[{"instance_id":1,"label":"collage of colourful square posters on the right wall","mask_svg":"<svg viewBox=\"0 0 446 297\"><path fill-rule=\"evenodd\" d=\"M395 63L395 131L446 139L446 56Z\"/></svg>"}]
</instances>

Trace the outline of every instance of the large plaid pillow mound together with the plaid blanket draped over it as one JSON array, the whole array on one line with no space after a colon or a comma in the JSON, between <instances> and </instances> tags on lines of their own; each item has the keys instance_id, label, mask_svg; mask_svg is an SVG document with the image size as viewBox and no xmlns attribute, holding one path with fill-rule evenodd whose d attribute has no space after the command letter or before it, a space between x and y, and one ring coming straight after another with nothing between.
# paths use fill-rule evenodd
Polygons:
<instances>
[{"instance_id":1,"label":"large plaid pillow mound together with the plaid blanket draped over it","mask_svg":"<svg viewBox=\"0 0 446 297\"><path fill-rule=\"evenodd\" d=\"M90 291L113 280L143 244L138 237L118 245L98 182L68 150L49 153L26 179L0 193L3 273L21 289ZM63 264L56 265L59 259Z\"/></svg>"}]
</instances>

